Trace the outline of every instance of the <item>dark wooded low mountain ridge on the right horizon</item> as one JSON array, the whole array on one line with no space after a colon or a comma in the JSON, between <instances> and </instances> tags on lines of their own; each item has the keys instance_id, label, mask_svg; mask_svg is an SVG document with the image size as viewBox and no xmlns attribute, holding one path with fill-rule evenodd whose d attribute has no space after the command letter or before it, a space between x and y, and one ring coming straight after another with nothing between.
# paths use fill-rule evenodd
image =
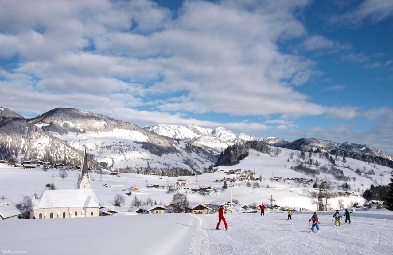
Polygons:
<instances>
[{"instance_id":1,"label":"dark wooded low mountain ridge on the right horizon","mask_svg":"<svg viewBox=\"0 0 393 255\"><path fill-rule=\"evenodd\" d=\"M379 149L373 148L367 144L353 144L349 142L332 142L328 140L322 140L318 138L300 138L293 142L282 146L288 149L296 149L296 150L303 150L309 151L310 149L316 150L320 149L320 151L331 151L335 150L342 150L349 153L358 153L358 154L365 154L374 157L383 157L389 160L393 160L393 156L389 153L384 151L380 151Z\"/></svg>"}]
</instances>

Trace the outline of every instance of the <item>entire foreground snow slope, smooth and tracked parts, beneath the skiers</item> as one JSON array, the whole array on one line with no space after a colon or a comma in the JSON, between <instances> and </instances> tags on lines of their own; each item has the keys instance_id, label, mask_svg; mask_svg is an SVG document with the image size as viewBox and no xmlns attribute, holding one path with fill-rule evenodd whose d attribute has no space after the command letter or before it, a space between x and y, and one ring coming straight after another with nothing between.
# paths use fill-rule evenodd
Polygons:
<instances>
[{"instance_id":1,"label":"entire foreground snow slope, smooth and tracked parts, beneath the skiers","mask_svg":"<svg viewBox=\"0 0 393 255\"><path fill-rule=\"evenodd\" d=\"M213 230L217 214L119 215L75 219L2 221L0 249L25 254L345 254L393 253L389 219L351 216L334 227L333 213L320 215L319 233L310 233L311 213L232 213L228 231ZM366 214L366 213L364 213ZM221 223L220 228L224 228Z\"/></svg>"}]
</instances>

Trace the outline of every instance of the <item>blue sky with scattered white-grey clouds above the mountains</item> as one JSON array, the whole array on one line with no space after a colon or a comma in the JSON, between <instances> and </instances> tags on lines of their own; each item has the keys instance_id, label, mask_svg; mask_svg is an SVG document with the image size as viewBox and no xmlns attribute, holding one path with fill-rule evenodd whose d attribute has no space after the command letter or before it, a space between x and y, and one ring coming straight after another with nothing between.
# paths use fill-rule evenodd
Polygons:
<instances>
[{"instance_id":1,"label":"blue sky with scattered white-grey clouds above the mountains","mask_svg":"<svg viewBox=\"0 0 393 255\"><path fill-rule=\"evenodd\" d=\"M393 153L391 45L390 0L0 1L0 106Z\"/></svg>"}]
</instances>

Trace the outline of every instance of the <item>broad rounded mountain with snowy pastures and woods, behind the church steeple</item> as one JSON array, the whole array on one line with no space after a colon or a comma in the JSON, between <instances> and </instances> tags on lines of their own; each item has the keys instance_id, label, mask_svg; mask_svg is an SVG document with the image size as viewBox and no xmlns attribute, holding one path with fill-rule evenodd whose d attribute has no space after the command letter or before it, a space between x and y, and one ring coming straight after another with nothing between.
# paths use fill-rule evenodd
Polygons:
<instances>
[{"instance_id":1,"label":"broad rounded mountain with snowy pastures and woods, behind the church steeple","mask_svg":"<svg viewBox=\"0 0 393 255\"><path fill-rule=\"evenodd\" d=\"M202 170L215 163L210 153L128 122L72 108L56 108L28 123L88 152L109 168Z\"/></svg>"}]
</instances>

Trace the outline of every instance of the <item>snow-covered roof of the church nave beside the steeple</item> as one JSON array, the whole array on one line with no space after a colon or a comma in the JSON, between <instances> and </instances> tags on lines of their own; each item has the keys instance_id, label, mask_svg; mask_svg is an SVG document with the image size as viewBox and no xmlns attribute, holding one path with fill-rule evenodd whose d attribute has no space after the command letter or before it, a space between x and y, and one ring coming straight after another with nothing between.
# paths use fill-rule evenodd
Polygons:
<instances>
[{"instance_id":1,"label":"snow-covered roof of the church nave beside the steeple","mask_svg":"<svg viewBox=\"0 0 393 255\"><path fill-rule=\"evenodd\" d=\"M33 209L43 208L96 208L99 200L93 189L50 189L40 199L32 200Z\"/></svg>"}]
</instances>

